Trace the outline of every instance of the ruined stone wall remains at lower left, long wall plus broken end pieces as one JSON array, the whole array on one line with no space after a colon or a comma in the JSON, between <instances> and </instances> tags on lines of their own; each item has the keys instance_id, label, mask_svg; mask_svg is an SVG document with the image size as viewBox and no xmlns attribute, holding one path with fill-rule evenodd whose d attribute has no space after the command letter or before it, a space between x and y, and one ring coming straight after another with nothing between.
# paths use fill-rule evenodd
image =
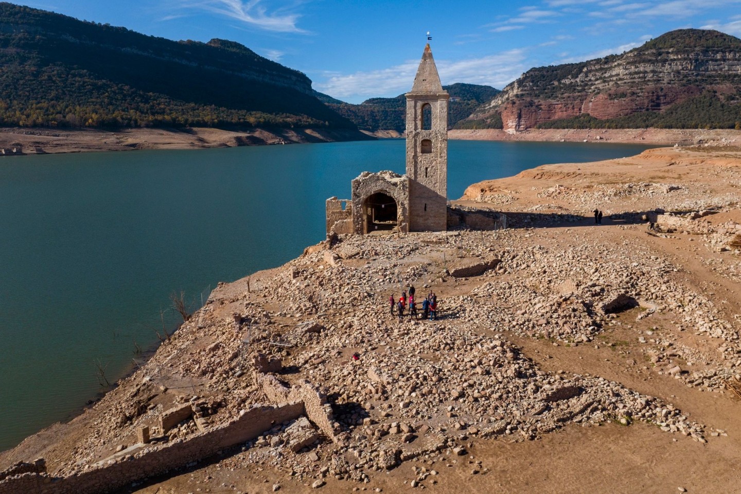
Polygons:
<instances>
[{"instance_id":1,"label":"ruined stone wall remains at lower left, long wall plus broken end pieces","mask_svg":"<svg viewBox=\"0 0 741 494\"><path fill-rule=\"evenodd\" d=\"M107 493L147 478L166 473L193 461L208 458L217 451L236 446L258 437L275 424L291 424L291 441L287 447L296 452L319 438L318 428L336 441L336 425L332 407L325 395L308 381L285 387L273 375L255 371L256 383L275 407L254 404L242 410L239 417L210 430L202 430L185 440L164 445L135 444L133 453L112 457L82 473L56 478L49 475L43 459L33 464L19 463L0 472L0 494L97 494ZM302 417L305 415L305 417ZM173 407L160 417L162 433L193 416L193 407L183 404ZM147 431L148 432L148 431ZM147 434L148 435L148 434Z\"/></svg>"}]
</instances>

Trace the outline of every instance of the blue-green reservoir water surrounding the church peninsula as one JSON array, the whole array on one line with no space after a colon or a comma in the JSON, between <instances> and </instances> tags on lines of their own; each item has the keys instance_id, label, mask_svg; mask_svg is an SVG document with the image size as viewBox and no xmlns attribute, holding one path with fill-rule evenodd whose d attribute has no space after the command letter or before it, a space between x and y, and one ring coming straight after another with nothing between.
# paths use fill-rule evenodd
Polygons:
<instances>
[{"instance_id":1,"label":"blue-green reservoir water surrounding the church peninsula","mask_svg":"<svg viewBox=\"0 0 741 494\"><path fill-rule=\"evenodd\" d=\"M633 144L450 141L448 196ZM153 150L0 162L0 450L69 418L218 281L325 238L325 199L364 170L405 172L405 141ZM33 458L28 458L33 459Z\"/></svg>"}]
</instances>

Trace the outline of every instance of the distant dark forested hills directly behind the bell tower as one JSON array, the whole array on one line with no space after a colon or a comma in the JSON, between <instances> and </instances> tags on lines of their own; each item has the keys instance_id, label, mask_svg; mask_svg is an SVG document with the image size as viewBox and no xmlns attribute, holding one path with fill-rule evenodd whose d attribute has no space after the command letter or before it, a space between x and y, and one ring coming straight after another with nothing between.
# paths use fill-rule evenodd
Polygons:
<instances>
[{"instance_id":1,"label":"distant dark forested hills directly behind the bell tower","mask_svg":"<svg viewBox=\"0 0 741 494\"><path fill-rule=\"evenodd\" d=\"M465 119L479 105L491 100L499 90L491 86L478 84L456 83L443 86L451 95L451 104L448 108L448 126L453 127L458 121ZM321 93L319 93L321 94ZM403 94L395 98L371 98L361 104L349 104L325 96L325 103L329 104L342 116L353 121L360 129L376 132L378 130L396 130L399 133L405 130L405 113L407 100Z\"/></svg>"}]
</instances>

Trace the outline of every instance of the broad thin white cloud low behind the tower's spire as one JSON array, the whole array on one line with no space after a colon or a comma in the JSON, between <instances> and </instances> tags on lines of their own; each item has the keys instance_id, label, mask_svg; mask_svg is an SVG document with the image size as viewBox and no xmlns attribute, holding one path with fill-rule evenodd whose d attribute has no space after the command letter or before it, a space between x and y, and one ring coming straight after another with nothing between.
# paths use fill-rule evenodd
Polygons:
<instances>
[{"instance_id":1,"label":"broad thin white cloud low behind the tower's spire","mask_svg":"<svg viewBox=\"0 0 741 494\"><path fill-rule=\"evenodd\" d=\"M516 49L480 59L436 61L442 84L465 82L486 84L501 89L514 81L529 67L525 67L525 50ZM419 60L388 69L333 75L317 90L335 98L353 103L376 96L397 96L411 90L411 81L419 67Z\"/></svg>"}]
</instances>

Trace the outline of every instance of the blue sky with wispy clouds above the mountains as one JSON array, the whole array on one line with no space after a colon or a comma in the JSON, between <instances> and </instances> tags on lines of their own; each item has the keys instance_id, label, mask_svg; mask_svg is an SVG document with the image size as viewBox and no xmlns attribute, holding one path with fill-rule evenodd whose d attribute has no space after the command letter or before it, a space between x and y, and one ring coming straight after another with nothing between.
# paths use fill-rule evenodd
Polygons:
<instances>
[{"instance_id":1,"label":"blue sky with wispy clouds above the mountains","mask_svg":"<svg viewBox=\"0 0 741 494\"><path fill-rule=\"evenodd\" d=\"M685 27L741 37L741 0L39 0L167 39L230 39L343 101L396 96L431 32L442 84L501 89L531 67L622 53Z\"/></svg>"}]
</instances>

